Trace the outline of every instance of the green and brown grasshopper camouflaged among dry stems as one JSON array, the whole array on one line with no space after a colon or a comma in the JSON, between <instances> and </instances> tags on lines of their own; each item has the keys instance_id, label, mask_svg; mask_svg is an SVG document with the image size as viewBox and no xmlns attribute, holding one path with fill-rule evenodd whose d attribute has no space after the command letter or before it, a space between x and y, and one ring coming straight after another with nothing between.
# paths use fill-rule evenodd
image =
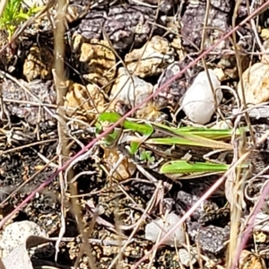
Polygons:
<instances>
[{"instance_id":1,"label":"green and brown grasshopper camouflaged among dry stems","mask_svg":"<svg viewBox=\"0 0 269 269\"><path fill-rule=\"evenodd\" d=\"M115 112L105 112L100 115L99 122L115 123L121 116ZM215 152L232 152L233 147L230 143L225 143L221 140L230 139L232 130L217 130L194 127L170 127L161 124L150 122L135 122L131 118L123 121L121 128L126 131L142 134L143 138L137 136L130 136L129 153L135 154L139 147L143 145L152 152L160 154L164 159L175 159L173 154L169 152L162 152L152 148L152 145L169 145L169 146L185 146L196 148L207 148L213 150L207 155ZM236 130L236 135L246 132L247 128L239 128ZM115 134L117 133L117 135ZM108 134L105 143L111 144L116 137L119 138L118 130L114 130L112 134ZM166 134L168 137L152 137L154 133ZM155 134L154 134L155 135ZM157 135L157 134L156 134ZM117 143L117 142L116 142ZM206 156L204 156L205 160ZM210 160L212 161L212 160ZM217 161L216 161L217 162ZM188 161L188 160L173 160L167 161L161 165L160 173L172 179L187 179L198 178L201 176L208 176L212 174L223 173L230 168L230 165L223 163L202 162L202 161Z\"/></svg>"}]
</instances>

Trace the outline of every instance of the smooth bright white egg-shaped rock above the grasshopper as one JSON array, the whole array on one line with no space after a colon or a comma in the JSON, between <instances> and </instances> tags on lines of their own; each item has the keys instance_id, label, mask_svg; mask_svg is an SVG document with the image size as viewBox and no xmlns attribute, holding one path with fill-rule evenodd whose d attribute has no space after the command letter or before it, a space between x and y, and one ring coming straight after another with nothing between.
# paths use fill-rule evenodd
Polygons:
<instances>
[{"instance_id":1,"label":"smooth bright white egg-shaped rock above the grasshopper","mask_svg":"<svg viewBox=\"0 0 269 269\"><path fill-rule=\"evenodd\" d=\"M216 92L218 106L221 103L222 91L216 88L221 86L221 82L213 73L212 69L208 69L208 73L213 84L213 89ZM195 81L181 100L181 107L187 117L195 123L204 125L210 121L215 111L215 105L213 91L205 71L195 77Z\"/></svg>"}]
</instances>

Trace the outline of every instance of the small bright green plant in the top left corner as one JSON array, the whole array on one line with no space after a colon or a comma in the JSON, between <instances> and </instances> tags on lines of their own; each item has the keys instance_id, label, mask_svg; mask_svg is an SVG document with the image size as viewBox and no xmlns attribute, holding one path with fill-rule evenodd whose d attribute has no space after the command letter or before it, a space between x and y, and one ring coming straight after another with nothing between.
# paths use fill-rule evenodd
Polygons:
<instances>
[{"instance_id":1,"label":"small bright green plant in the top left corner","mask_svg":"<svg viewBox=\"0 0 269 269\"><path fill-rule=\"evenodd\" d=\"M7 0L4 13L0 18L0 30L6 30L11 39L14 31L22 23L27 21L34 13L39 12L39 6L32 6L27 9L22 8L23 0Z\"/></svg>"}]
</instances>

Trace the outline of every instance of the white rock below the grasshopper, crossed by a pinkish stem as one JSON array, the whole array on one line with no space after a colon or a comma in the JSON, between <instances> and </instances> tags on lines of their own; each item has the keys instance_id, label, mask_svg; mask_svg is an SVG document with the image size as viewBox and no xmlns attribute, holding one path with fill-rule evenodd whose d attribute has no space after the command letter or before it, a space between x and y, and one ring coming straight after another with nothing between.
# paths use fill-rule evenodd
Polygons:
<instances>
[{"instance_id":1,"label":"white rock below the grasshopper, crossed by a pinkish stem","mask_svg":"<svg viewBox=\"0 0 269 269\"><path fill-rule=\"evenodd\" d=\"M145 227L145 239L151 240L152 242L156 242L158 236L161 232L160 227L162 228L161 239L164 238L166 233L174 228L174 226L178 223L180 218L175 213L169 213L167 220L165 223L163 220L156 220L148 223ZM177 243L185 243L185 230L183 225L179 225L177 230L174 233L170 234L169 237L163 242L164 245L174 246L175 242Z\"/></svg>"}]
</instances>

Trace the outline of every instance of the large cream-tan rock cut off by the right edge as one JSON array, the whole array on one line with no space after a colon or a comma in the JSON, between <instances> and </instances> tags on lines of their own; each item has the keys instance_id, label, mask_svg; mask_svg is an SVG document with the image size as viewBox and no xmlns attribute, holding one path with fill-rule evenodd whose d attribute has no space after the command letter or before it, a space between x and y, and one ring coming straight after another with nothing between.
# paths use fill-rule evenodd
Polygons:
<instances>
[{"instance_id":1,"label":"large cream-tan rock cut off by the right edge","mask_svg":"<svg viewBox=\"0 0 269 269\"><path fill-rule=\"evenodd\" d=\"M242 75L247 103L259 104L269 100L269 65L256 63ZM243 100L241 82L238 84L239 98Z\"/></svg>"}]
</instances>

